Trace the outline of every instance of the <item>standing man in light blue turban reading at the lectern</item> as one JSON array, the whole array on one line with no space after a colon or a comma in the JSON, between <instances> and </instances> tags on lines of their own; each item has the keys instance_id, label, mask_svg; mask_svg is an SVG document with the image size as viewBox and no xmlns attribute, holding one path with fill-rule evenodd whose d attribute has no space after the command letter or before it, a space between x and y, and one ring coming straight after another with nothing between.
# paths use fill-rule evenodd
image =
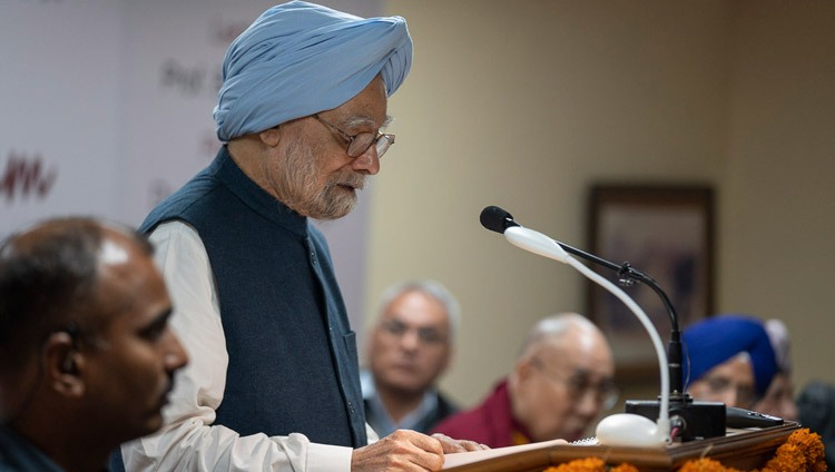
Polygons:
<instances>
[{"instance_id":1,"label":"standing man in light blue turban reading at the lectern","mask_svg":"<svg viewBox=\"0 0 835 472\"><path fill-rule=\"evenodd\" d=\"M141 225L194 361L128 471L438 470L480 445L366 429L355 334L308 218L346 215L380 158L412 62L400 17L292 1L230 45L215 160ZM370 444L371 442L371 444ZM412 469L410 469L412 470Z\"/></svg>"}]
</instances>

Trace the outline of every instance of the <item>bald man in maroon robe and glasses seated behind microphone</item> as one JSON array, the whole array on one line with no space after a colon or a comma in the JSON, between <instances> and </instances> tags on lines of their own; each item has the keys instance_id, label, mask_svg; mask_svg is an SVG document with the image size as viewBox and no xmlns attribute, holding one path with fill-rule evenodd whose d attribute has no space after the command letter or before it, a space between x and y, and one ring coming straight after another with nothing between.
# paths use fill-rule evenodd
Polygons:
<instances>
[{"instance_id":1,"label":"bald man in maroon robe and glasses seated behind microphone","mask_svg":"<svg viewBox=\"0 0 835 472\"><path fill-rule=\"evenodd\" d=\"M553 439L576 441L618 400L611 348L576 313L552 315L528 334L515 367L484 402L435 432L503 448Z\"/></svg>"}]
</instances>

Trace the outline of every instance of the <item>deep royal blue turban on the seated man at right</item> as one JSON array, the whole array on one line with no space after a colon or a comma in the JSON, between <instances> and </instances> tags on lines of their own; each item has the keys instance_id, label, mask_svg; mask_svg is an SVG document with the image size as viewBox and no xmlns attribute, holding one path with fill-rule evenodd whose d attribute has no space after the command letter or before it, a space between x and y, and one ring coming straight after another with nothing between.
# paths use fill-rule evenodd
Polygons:
<instances>
[{"instance_id":1,"label":"deep royal blue turban on the seated man at right","mask_svg":"<svg viewBox=\"0 0 835 472\"><path fill-rule=\"evenodd\" d=\"M754 366L757 394L763 396L777 372L777 360L763 322L745 315L719 315L706 318L684 334L685 353L689 354L690 382L735 355L746 352ZM687 363L682 368L687 380Z\"/></svg>"}]
</instances>

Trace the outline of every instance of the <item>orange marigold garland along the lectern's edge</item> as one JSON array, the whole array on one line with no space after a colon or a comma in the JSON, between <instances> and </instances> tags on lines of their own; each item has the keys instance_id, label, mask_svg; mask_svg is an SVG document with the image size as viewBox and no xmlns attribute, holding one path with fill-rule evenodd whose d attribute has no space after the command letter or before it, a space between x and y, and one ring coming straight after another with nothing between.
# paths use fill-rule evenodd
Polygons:
<instances>
[{"instance_id":1,"label":"orange marigold garland along the lectern's edge","mask_svg":"<svg viewBox=\"0 0 835 472\"><path fill-rule=\"evenodd\" d=\"M824 443L821 435L808 429L793 432L783 443L774 456L760 470L750 472L825 472ZM543 472L639 472L631 464L607 465L602 459L586 458L552 465ZM744 472L734 468L726 468L713 459L696 459L687 461L678 472Z\"/></svg>"}]
</instances>

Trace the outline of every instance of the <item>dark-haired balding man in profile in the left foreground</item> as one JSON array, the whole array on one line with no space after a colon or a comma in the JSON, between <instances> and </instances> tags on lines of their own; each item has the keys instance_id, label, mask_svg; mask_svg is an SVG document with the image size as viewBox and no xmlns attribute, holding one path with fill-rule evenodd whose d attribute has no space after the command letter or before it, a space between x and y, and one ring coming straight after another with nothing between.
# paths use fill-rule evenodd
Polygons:
<instances>
[{"instance_id":1,"label":"dark-haired balding man in profile in the left foreground","mask_svg":"<svg viewBox=\"0 0 835 472\"><path fill-rule=\"evenodd\" d=\"M105 470L157 431L186 353L151 246L61 218L0 246L0 470Z\"/></svg>"}]
</instances>

